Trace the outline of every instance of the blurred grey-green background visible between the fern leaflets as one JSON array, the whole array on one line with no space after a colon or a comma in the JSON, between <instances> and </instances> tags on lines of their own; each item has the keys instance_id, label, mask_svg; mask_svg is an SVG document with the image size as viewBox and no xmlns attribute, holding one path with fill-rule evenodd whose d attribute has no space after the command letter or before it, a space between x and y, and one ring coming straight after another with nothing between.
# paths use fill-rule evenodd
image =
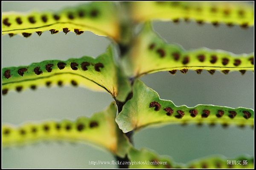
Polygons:
<instances>
[{"instance_id":1,"label":"blurred grey-green background visible between the fern leaflets","mask_svg":"<svg viewBox=\"0 0 256 170\"><path fill-rule=\"evenodd\" d=\"M34 10L59 10L76 6L81 2L3 2L2 11L27 12ZM154 29L169 43L178 43L184 49L207 47L224 49L235 54L254 51L254 27L241 29L211 24L155 22ZM51 35L43 32L29 38L15 35L2 36L2 67L29 65L50 59L67 60L88 55L97 57L111 43L106 37L91 32L76 35L63 32ZM177 72L158 72L141 78L157 91L162 99L172 100L177 106L186 104L214 104L228 107L254 108L254 74L203 71L197 75ZM113 99L108 93L92 92L74 87L41 88L21 93L9 92L2 97L2 121L14 125L42 120L76 120L79 116L90 117L107 107ZM217 125L165 125L149 127L134 135L137 149L147 147L160 155L167 155L178 163L187 163L210 155L236 158L254 155L254 130L236 126L227 128ZM2 168L115 168L115 165L94 166L89 161L112 161L115 158L105 150L90 144L38 143L2 150Z\"/></svg>"}]
</instances>

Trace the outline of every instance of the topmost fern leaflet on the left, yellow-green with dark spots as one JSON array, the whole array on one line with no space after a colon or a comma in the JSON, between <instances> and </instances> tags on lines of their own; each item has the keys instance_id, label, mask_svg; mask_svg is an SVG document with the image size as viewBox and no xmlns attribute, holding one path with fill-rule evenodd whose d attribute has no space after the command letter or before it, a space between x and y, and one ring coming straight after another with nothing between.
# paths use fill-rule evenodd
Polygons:
<instances>
[{"instance_id":1,"label":"topmost fern leaflet on the left, yellow-green with dark spots","mask_svg":"<svg viewBox=\"0 0 256 170\"><path fill-rule=\"evenodd\" d=\"M113 2L92 2L58 12L4 12L2 14L2 34L22 34L29 37L44 31L55 34L59 31L75 32L80 35L90 31L97 35L119 40L119 21Z\"/></svg>"}]
</instances>

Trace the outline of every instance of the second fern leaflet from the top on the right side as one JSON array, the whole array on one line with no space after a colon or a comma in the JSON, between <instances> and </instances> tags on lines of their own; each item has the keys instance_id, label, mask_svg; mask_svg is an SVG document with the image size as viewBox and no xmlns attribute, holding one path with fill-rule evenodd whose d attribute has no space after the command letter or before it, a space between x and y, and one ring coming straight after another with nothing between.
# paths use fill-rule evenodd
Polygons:
<instances>
[{"instance_id":1,"label":"second fern leaflet from the top on the right side","mask_svg":"<svg viewBox=\"0 0 256 170\"><path fill-rule=\"evenodd\" d=\"M166 43L152 29L151 24L145 24L143 30L134 40L130 52L122 58L122 66L129 76L140 77L159 71L169 71L175 74L177 70L186 73L188 69L200 74L203 69L210 74L219 70L224 74L230 71L254 70L254 52L235 55L223 50L207 48L185 50L176 44Z\"/></svg>"}]
</instances>

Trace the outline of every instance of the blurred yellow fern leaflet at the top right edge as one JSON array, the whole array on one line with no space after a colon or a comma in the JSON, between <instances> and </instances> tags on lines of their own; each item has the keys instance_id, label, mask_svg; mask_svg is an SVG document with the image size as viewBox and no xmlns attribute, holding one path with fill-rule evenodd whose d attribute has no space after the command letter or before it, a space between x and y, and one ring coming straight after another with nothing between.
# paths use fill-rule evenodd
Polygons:
<instances>
[{"instance_id":1,"label":"blurred yellow fern leaflet at the top right edge","mask_svg":"<svg viewBox=\"0 0 256 170\"><path fill-rule=\"evenodd\" d=\"M131 11L137 22L181 19L243 28L254 25L253 3L246 2L132 2Z\"/></svg>"}]
</instances>

